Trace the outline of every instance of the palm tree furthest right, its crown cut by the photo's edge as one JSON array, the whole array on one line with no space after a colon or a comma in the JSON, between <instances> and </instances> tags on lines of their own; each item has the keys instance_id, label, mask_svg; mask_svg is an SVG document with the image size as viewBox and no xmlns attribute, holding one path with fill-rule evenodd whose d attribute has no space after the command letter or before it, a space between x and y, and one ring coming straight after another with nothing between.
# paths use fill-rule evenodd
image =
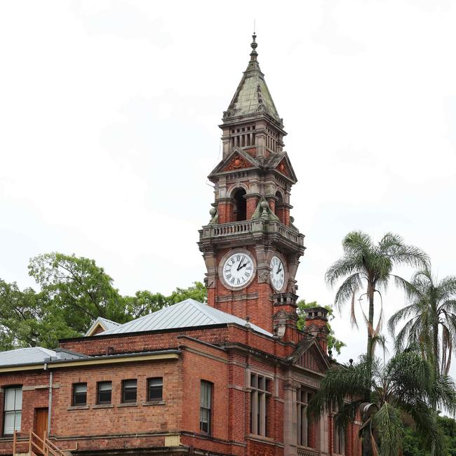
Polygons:
<instances>
[{"instance_id":1,"label":"palm tree furthest right, its crown cut by the photo's edge","mask_svg":"<svg viewBox=\"0 0 456 456\"><path fill-rule=\"evenodd\" d=\"M456 277L437 281L426 267L413 275L407 290L410 304L388 322L394 335L398 323L408 319L396 336L396 349L419 344L434 367L434 375L446 375L456 341Z\"/></svg>"}]
</instances>

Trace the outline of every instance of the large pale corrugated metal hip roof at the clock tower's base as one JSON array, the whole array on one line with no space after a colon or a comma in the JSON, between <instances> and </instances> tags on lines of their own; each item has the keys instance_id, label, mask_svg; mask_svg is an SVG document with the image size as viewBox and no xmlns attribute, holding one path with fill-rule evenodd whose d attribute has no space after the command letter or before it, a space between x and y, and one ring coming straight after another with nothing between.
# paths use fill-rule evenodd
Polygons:
<instances>
[{"instance_id":1,"label":"large pale corrugated metal hip roof at the clock tower's base","mask_svg":"<svg viewBox=\"0 0 456 456\"><path fill-rule=\"evenodd\" d=\"M236 323L246 326L247 321L214 309L207 304L188 299L170 307L142 316L123 325L107 330L97 335L137 333L161 329L191 328L192 326L219 325L222 323ZM267 330L250 324L250 328L265 335L272 336Z\"/></svg>"}]
</instances>

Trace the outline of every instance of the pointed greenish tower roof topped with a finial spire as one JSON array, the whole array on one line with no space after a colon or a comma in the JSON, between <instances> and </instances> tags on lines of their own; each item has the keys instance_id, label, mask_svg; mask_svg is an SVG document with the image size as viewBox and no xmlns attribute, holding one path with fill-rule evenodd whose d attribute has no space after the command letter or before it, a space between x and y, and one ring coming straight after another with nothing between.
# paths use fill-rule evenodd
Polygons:
<instances>
[{"instance_id":1,"label":"pointed greenish tower roof topped with a finial spire","mask_svg":"<svg viewBox=\"0 0 456 456\"><path fill-rule=\"evenodd\" d=\"M264 81L264 74L261 72L260 65L257 61L257 42L256 34L253 32L252 52L250 53L250 62L244 72L241 82L234 93L232 102L229 104L227 111L223 113L223 120L239 116L250 116L253 114L268 114L274 121L282 125L282 119L277 112L276 105L272 100L269 88Z\"/></svg>"}]
</instances>

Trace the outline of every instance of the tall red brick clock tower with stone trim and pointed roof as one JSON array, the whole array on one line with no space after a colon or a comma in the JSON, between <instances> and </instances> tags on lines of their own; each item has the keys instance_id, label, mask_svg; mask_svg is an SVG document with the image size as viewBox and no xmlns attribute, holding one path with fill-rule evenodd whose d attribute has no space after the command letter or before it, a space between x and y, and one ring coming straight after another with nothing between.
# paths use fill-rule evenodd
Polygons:
<instances>
[{"instance_id":1,"label":"tall red brick clock tower with stone trim and pointed roof","mask_svg":"<svg viewBox=\"0 0 456 456\"><path fill-rule=\"evenodd\" d=\"M257 61L250 62L223 113L222 161L208 176L215 202L200 230L208 304L269 332L293 323L295 275L304 236L290 216L297 182L283 150L283 121Z\"/></svg>"}]
</instances>

